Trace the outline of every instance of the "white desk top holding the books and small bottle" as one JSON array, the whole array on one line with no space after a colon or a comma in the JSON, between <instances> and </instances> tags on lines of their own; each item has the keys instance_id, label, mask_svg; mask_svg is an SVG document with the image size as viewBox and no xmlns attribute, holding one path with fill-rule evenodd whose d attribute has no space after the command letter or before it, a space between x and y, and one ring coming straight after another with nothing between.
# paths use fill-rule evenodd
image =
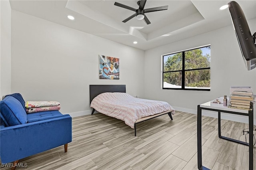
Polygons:
<instances>
[{"instance_id":1,"label":"white desk top holding the books and small bottle","mask_svg":"<svg viewBox=\"0 0 256 170\"><path fill-rule=\"evenodd\" d=\"M232 112L238 112L238 113L249 113L249 111L247 111L247 110L233 109L233 108L228 108L227 106L223 106L223 99L224 99L224 97L218 98L218 100L222 104L212 103L212 101L214 101L214 100L212 100L212 101L208 101L206 103L201 104L200 107L208 108L208 109L218 109L218 110L223 110L223 111L232 111ZM229 97L227 97L227 99L229 100Z\"/></svg>"}]
</instances>

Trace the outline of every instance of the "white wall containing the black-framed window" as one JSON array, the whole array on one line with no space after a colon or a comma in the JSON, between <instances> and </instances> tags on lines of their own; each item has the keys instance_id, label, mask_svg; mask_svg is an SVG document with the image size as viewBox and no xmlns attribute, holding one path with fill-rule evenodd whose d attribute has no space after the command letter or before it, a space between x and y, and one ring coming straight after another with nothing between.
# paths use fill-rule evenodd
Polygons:
<instances>
[{"instance_id":1,"label":"white wall containing the black-framed window","mask_svg":"<svg viewBox=\"0 0 256 170\"><path fill-rule=\"evenodd\" d=\"M256 19L249 20L248 24L251 31L256 32ZM161 55L207 44L211 45L211 91L162 89ZM229 95L230 86L252 86L255 94L255 75L256 69L247 71L245 67L232 26L145 51L145 97L167 101L178 111L196 114L197 105ZM233 118L230 119L248 120L246 117Z\"/></svg>"}]
</instances>

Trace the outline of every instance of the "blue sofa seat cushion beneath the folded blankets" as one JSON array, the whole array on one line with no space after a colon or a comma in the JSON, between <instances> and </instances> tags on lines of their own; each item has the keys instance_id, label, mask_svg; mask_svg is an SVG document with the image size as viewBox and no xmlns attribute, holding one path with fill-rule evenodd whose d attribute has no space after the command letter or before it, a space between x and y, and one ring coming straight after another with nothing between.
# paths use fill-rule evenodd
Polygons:
<instances>
[{"instance_id":1,"label":"blue sofa seat cushion beneath the folded blankets","mask_svg":"<svg viewBox=\"0 0 256 170\"><path fill-rule=\"evenodd\" d=\"M53 119L57 117L63 117L68 115L62 115L59 111L44 111L44 112L37 112L37 113L28 113L27 120L28 123L37 122L37 121L44 121L47 119Z\"/></svg>"}]
</instances>

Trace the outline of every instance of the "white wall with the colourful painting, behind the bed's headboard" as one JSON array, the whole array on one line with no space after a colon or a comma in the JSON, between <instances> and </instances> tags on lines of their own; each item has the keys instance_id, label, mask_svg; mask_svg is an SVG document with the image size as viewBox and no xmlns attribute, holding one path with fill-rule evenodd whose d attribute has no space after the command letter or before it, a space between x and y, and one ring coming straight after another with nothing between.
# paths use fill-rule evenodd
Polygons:
<instances>
[{"instance_id":1,"label":"white wall with the colourful painting, behind the bed's headboard","mask_svg":"<svg viewBox=\"0 0 256 170\"><path fill-rule=\"evenodd\" d=\"M120 80L99 79L99 57L120 58ZM12 10L12 93L90 114L89 85L126 84L144 96L144 51Z\"/></svg>"}]
</instances>

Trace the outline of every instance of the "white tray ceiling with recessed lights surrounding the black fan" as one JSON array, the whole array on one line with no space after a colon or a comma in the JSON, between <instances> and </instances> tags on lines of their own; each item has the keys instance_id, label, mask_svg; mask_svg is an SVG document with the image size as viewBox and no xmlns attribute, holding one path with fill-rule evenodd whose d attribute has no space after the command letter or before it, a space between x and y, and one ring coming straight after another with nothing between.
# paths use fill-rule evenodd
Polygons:
<instances>
[{"instance_id":1,"label":"white tray ceiling with recessed lights surrounding the black fan","mask_svg":"<svg viewBox=\"0 0 256 170\"><path fill-rule=\"evenodd\" d=\"M134 12L114 2L138 8L137 0L10 0L12 10L143 50L232 25L228 9L219 10L226 0L147 0L145 9L168 5L146 14L149 25L136 18L123 23ZM237 2L247 20L256 18L256 1Z\"/></svg>"}]
</instances>

